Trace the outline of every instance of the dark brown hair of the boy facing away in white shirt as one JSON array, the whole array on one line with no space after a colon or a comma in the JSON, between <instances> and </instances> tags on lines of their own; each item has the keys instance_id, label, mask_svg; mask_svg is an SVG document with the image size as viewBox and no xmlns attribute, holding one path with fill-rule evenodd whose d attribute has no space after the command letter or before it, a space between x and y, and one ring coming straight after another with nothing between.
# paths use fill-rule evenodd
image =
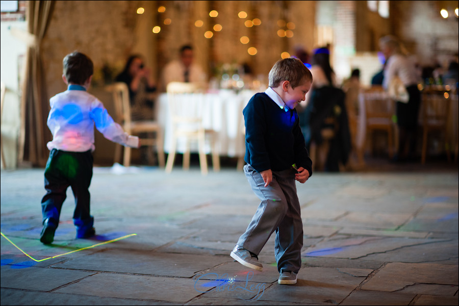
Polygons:
<instances>
[{"instance_id":1,"label":"dark brown hair of the boy facing away in white shirt","mask_svg":"<svg viewBox=\"0 0 459 306\"><path fill-rule=\"evenodd\" d=\"M94 73L94 64L91 59L77 51L67 54L62 64L65 79L71 84L84 85Z\"/></svg>"}]
</instances>

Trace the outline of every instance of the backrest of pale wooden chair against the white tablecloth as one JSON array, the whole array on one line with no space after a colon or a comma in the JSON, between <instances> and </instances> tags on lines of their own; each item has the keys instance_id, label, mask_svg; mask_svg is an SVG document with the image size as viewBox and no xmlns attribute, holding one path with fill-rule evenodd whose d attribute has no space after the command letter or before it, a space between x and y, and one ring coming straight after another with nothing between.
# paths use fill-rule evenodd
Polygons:
<instances>
[{"instance_id":1,"label":"backrest of pale wooden chair against the white tablecloth","mask_svg":"<svg viewBox=\"0 0 459 306\"><path fill-rule=\"evenodd\" d=\"M171 82L166 87L169 114L175 130L201 129L204 95L193 83Z\"/></svg>"}]
</instances>

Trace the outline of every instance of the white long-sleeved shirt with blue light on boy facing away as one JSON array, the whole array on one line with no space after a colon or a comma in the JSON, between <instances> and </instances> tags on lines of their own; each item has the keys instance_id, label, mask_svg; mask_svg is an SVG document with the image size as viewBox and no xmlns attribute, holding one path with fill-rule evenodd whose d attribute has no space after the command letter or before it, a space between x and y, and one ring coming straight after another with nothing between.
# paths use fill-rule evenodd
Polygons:
<instances>
[{"instance_id":1,"label":"white long-sleeved shirt with blue light on boy facing away","mask_svg":"<svg viewBox=\"0 0 459 306\"><path fill-rule=\"evenodd\" d=\"M67 90L49 99L47 124L53 140L47 143L49 150L70 152L93 151L94 125L105 138L122 145L137 147L139 138L127 135L114 122L104 105L80 85L69 85Z\"/></svg>"}]
</instances>

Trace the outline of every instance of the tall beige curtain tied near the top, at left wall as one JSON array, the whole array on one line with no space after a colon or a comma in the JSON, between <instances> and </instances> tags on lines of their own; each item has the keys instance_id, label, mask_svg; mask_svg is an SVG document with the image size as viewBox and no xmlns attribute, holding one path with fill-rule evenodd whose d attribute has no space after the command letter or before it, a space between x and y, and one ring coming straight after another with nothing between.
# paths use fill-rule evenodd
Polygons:
<instances>
[{"instance_id":1,"label":"tall beige curtain tied near the top, at left wall","mask_svg":"<svg viewBox=\"0 0 459 306\"><path fill-rule=\"evenodd\" d=\"M21 129L18 162L28 161L44 167L49 154L46 142L52 136L46 126L49 99L41 56L41 42L51 20L54 1L28 1L25 18L34 37L25 57L25 74L21 97Z\"/></svg>"}]
</instances>

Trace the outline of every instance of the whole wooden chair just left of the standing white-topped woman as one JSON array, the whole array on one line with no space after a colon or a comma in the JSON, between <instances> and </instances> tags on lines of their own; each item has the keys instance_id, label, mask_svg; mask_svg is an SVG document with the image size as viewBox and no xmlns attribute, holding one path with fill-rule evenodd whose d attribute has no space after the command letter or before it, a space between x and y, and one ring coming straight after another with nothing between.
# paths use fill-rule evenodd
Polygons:
<instances>
[{"instance_id":1,"label":"whole wooden chair just left of the standing white-topped woman","mask_svg":"<svg viewBox=\"0 0 459 306\"><path fill-rule=\"evenodd\" d=\"M395 123L392 117L395 114L395 103L384 88L373 86L362 89L360 99L360 120L364 120L365 133L360 144L359 155L364 156L366 142L371 138L374 131L384 131L388 137L388 155L390 158L395 152ZM374 148L374 143L370 143Z\"/></svg>"}]
</instances>

